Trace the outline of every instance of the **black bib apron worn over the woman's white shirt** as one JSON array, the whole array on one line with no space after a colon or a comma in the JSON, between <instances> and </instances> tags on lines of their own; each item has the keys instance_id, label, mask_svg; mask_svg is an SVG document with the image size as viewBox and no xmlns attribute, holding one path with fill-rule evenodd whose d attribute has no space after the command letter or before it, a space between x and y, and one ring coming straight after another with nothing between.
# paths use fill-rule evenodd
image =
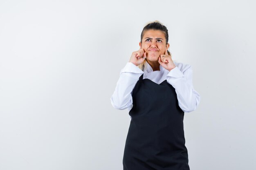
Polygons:
<instances>
[{"instance_id":1,"label":"black bib apron worn over the woman's white shirt","mask_svg":"<svg viewBox=\"0 0 256 170\"><path fill-rule=\"evenodd\" d=\"M184 111L175 88L139 77L132 91L133 106L124 149L124 170L189 170Z\"/></svg>"}]
</instances>

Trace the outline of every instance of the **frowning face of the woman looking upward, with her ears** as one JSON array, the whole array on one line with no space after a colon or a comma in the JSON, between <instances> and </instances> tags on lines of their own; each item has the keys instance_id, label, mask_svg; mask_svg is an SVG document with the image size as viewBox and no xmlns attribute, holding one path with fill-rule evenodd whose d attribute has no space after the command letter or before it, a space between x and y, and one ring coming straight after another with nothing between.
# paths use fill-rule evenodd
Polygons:
<instances>
[{"instance_id":1,"label":"frowning face of the woman looking upward, with her ears","mask_svg":"<svg viewBox=\"0 0 256 170\"><path fill-rule=\"evenodd\" d=\"M144 33L141 42L139 42L139 46L146 51L147 60L150 61L157 61L158 57L164 54L170 45L169 43L166 44L163 31L153 29Z\"/></svg>"}]
</instances>

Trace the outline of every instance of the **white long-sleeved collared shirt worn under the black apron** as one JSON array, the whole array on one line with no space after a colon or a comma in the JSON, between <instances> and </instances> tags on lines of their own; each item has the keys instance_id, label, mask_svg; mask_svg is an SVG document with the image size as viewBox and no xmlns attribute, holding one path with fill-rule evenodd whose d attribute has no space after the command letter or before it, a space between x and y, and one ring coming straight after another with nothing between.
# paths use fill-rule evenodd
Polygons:
<instances>
[{"instance_id":1,"label":"white long-sleeved collared shirt worn under the black apron","mask_svg":"<svg viewBox=\"0 0 256 170\"><path fill-rule=\"evenodd\" d=\"M184 113L195 110L200 103L200 95L193 88L191 65L179 62L173 63L176 67L171 71L166 70L161 65L160 71L153 71L152 67L146 62L146 69L142 71L135 64L128 62L121 69L115 91L110 98L112 106L119 110L128 108L130 111L132 109L131 94L139 77L144 73L143 79L150 79L157 84L167 80L175 88L178 104Z\"/></svg>"}]
</instances>

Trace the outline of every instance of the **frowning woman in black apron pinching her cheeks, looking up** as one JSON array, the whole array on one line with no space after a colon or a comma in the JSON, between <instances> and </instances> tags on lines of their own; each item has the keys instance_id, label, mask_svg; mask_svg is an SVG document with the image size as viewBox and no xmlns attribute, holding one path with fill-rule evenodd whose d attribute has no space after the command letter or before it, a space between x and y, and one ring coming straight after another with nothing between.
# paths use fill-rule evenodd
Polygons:
<instances>
[{"instance_id":1,"label":"frowning woman in black apron pinching her cheeks, looking up","mask_svg":"<svg viewBox=\"0 0 256 170\"><path fill-rule=\"evenodd\" d=\"M124 149L124 170L189 170L184 113L195 110L200 95L189 64L173 62L168 30L147 24L139 50L121 70L111 104L131 117Z\"/></svg>"}]
</instances>

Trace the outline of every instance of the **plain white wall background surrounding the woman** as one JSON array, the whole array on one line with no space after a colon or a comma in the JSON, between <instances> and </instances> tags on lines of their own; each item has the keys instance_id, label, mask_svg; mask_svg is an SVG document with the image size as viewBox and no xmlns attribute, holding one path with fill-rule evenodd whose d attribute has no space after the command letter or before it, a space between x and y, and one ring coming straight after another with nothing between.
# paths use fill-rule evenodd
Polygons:
<instances>
[{"instance_id":1,"label":"plain white wall background surrounding the woman","mask_svg":"<svg viewBox=\"0 0 256 170\"><path fill-rule=\"evenodd\" d=\"M1 0L0 170L121 170L128 110L110 97L150 21L191 64L191 170L256 168L253 0Z\"/></svg>"}]
</instances>

